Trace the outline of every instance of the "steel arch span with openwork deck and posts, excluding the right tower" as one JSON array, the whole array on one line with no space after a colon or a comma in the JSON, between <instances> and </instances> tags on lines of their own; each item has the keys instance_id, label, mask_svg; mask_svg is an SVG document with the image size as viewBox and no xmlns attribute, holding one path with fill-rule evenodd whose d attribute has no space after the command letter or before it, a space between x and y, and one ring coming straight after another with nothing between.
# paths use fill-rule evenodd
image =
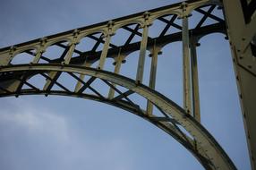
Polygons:
<instances>
[{"instance_id":1,"label":"steel arch span with openwork deck and posts, excluding the right tower","mask_svg":"<svg viewBox=\"0 0 256 170\"><path fill-rule=\"evenodd\" d=\"M217 6L215 3L221 3L219 0L190 0L183 4L172 4L158 9L149 10L149 12L136 13L123 18L115 19L113 21L105 21L95 25L91 25L77 30L70 30L56 35L48 36L46 38L35 39L33 41L16 45L15 47L5 47L0 49L0 98L6 96L19 96L19 95L32 95L32 94L45 94L47 95L64 95L78 98L87 98L91 100L100 101L109 105L120 107L127 110L134 115L139 115L147 121L157 125L160 129L167 132L171 136L178 140L186 149L192 152L201 165L206 169L236 169L230 158L226 155L223 149L218 145L218 142L204 129L200 123L200 107L199 107L199 87L197 78L197 66L196 66L196 46L205 35L213 32L226 33L225 21L218 16L213 16L211 11L202 10L206 5L212 5L210 8L214 10ZM193 29L188 27L188 17L194 10L200 10L203 15L197 26ZM176 13L175 18L166 20L165 14ZM218 19L213 24L203 25L204 21L208 18ZM182 19L181 24L175 24L176 19ZM159 20L160 19L160 20ZM161 30L158 37L149 37L149 28L153 21L162 21L165 24L165 28ZM111 37L115 36L115 31L122 29L122 26L132 21L139 21L138 26L141 26L141 41L133 42L134 35L138 34L138 30L135 28L129 29L131 33L127 38L124 46L111 44ZM178 27L178 32L166 33L171 27ZM203 26L202 26L203 25ZM139 28L139 27L138 27ZM96 38L97 41L94 47L90 50L82 51L76 49L76 45L79 44L82 38L86 38L90 33L102 32L100 38ZM47 50L47 45L53 46L52 42L58 42L60 39L68 38L69 44L62 45L56 44L59 47L64 48L64 53L56 59L49 59L45 56L44 52ZM128 41L128 39L130 39ZM133 39L134 40L134 39ZM190 71L188 61L183 63L183 70L185 72L192 72L192 79L188 74L183 75L186 77L183 81L183 94L193 94L190 98L188 95L185 102L194 106L188 106L186 111L175 104L175 102L166 98L162 94L158 93L155 89L156 72L158 55L161 54L161 49L175 41L183 41L183 57L189 57L188 52L191 49L192 55L192 69ZM185 43L184 43L185 42ZM96 51L99 45L103 45L101 51ZM30 64L13 65L10 62L13 59L15 53L19 53L26 47L37 47L37 52L34 54L34 60ZM139 62L137 67L136 80L129 79L127 77L119 75L121 65L125 63L127 56L140 50ZM143 71L145 63L146 51L149 50L151 59L149 87L142 85L140 82L143 80ZM26 51L31 54L31 51ZM75 55L73 55L75 54ZM115 73L101 71L98 69L88 68L90 64L99 62L98 68L103 69L107 58L113 58L115 60ZM47 64L38 64L40 59L47 59ZM79 66L80 65L80 66ZM63 72L67 72L76 76L76 87L73 90L66 89L62 83L58 83L59 77ZM142 72L142 73L141 73ZM139 73L139 74L138 74ZM32 84L28 83L33 76L41 74L47 81L43 89L38 89ZM65 74L65 73L64 73ZM93 91L96 95L85 94L84 89L87 89L87 85L90 87L90 81L83 81L84 76L90 76L90 81L101 80L104 81L109 89L108 97L104 97ZM138 76L139 75L139 76ZM191 82L191 84L189 84ZM29 85L31 89L23 89L24 84ZM62 90L54 90L54 85L58 85ZM136 93L141 97L147 99L147 110L144 111L139 105L134 104L129 98L125 98L126 92L118 92L115 86L123 86L128 89L129 93ZM192 87L189 87L192 86ZM192 88L192 90L188 89ZM111 91L112 90L112 91ZM113 93L114 91L114 93ZM119 93L121 99L116 99L115 92ZM124 99L126 99L126 101ZM189 99L190 98L190 99ZM192 99L192 101L190 101ZM194 104L195 103L195 104ZM152 107L155 106L161 112L163 116L156 117L152 113ZM151 107L151 108L149 108ZM150 110L151 109L151 110ZM190 115L191 114L191 115ZM186 130L180 129L180 126Z\"/></svg>"}]
</instances>

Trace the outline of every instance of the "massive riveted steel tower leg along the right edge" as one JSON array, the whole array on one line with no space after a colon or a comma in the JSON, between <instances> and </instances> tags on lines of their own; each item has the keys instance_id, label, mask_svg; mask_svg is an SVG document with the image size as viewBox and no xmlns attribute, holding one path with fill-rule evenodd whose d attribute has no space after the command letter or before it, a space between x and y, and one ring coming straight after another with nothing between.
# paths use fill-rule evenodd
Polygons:
<instances>
[{"instance_id":1,"label":"massive riveted steel tower leg along the right edge","mask_svg":"<svg viewBox=\"0 0 256 170\"><path fill-rule=\"evenodd\" d=\"M256 168L256 55L253 55L252 51L255 47L252 41L256 37L255 2L255 0L223 1L253 170Z\"/></svg>"}]
</instances>

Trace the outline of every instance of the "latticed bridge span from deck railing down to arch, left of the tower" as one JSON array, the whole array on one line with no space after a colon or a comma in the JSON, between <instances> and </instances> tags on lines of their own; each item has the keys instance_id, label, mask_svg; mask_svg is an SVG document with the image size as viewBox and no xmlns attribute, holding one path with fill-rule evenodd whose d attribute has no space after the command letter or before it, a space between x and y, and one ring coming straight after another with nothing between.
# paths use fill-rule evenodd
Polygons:
<instances>
[{"instance_id":1,"label":"latticed bridge span from deck railing down to arch, left of the tower","mask_svg":"<svg viewBox=\"0 0 256 170\"><path fill-rule=\"evenodd\" d=\"M172 135L205 168L235 169L201 126L197 101L195 48L210 33L226 35L221 9L218 1L173 4L2 48L0 97L64 95L118 106ZM154 90L161 49L177 41L183 41L183 108ZM130 60L134 66L122 73Z\"/></svg>"}]
</instances>

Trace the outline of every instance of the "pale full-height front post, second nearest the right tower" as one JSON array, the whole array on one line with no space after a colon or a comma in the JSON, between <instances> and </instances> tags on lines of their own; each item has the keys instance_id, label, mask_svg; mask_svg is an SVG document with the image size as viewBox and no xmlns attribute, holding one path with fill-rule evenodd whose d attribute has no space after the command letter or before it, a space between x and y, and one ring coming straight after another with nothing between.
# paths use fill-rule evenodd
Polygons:
<instances>
[{"instance_id":1,"label":"pale full-height front post, second nearest the right tower","mask_svg":"<svg viewBox=\"0 0 256 170\"><path fill-rule=\"evenodd\" d=\"M143 27L142 39L141 39L141 47L140 47L140 58L137 68L137 75L136 81L142 82L143 81L143 72L144 72L144 64L145 64L145 56L148 44L148 34L149 34L149 13L144 13L145 22Z\"/></svg>"}]
</instances>

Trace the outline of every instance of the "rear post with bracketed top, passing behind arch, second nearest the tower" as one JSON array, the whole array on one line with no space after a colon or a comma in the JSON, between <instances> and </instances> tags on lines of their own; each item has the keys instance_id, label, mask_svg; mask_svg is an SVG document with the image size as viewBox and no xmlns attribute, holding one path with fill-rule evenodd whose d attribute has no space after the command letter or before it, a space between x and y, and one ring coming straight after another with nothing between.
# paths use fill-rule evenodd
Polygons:
<instances>
[{"instance_id":1,"label":"rear post with bracketed top, passing behind arch, second nearest the tower","mask_svg":"<svg viewBox=\"0 0 256 170\"><path fill-rule=\"evenodd\" d=\"M156 47L156 40L154 41L154 47L151 51L151 67L150 67L150 77L149 77L149 88L155 89L156 79L157 79L157 67L158 67L158 53L160 49ZM147 114L153 114L153 104L148 100L147 103Z\"/></svg>"}]
</instances>

